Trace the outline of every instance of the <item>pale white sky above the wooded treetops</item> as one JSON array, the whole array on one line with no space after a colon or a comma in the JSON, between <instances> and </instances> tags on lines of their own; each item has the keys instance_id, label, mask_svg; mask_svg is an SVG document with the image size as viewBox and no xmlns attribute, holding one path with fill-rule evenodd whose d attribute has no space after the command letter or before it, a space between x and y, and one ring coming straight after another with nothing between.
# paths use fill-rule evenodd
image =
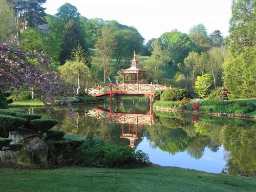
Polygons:
<instances>
[{"instance_id":1,"label":"pale white sky above the wooded treetops","mask_svg":"<svg viewBox=\"0 0 256 192\"><path fill-rule=\"evenodd\" d=\"M188 33L200 23L208 34L218 29L227 36L231 17L231 0L47 0L43 7L54 15L65 3L89 19L117 20L133 26L145 41L173 29Z\"/></svg>"}]
</instances>

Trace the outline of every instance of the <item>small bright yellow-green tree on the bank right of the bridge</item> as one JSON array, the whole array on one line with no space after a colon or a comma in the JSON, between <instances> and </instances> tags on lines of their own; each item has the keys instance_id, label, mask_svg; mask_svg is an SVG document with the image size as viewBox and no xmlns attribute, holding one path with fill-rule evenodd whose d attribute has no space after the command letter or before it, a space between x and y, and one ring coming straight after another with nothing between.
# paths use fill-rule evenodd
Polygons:
<instances>
[{"instance_id":1,"label":"small bright yellow-green tree on the bank right of the bridge","mask_svg":"<svg viewBox=\"0 0 256 192\"><path fill-rule=\"evenodd\" d=\"M204 74L197 76L197 81L195 82L195 92L199 97L204 98L212 84L212 79L209 74Z\"/></svg>"}]
</instances>

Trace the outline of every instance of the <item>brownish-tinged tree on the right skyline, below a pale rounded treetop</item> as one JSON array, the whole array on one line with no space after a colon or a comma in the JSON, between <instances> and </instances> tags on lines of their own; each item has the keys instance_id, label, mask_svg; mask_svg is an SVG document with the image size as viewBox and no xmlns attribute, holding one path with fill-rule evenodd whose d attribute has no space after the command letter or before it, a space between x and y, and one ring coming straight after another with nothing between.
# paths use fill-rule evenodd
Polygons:
<instances>
[{"instance_id":1,"label":"brownish-tinged tree on the right skyline, below a pale rounded treetop","mask_svg":"<svg viewBox=\"0 0 256 192\"><path fill-rule=\"evenodd\" d=\"M195 42L199 53L206 52L211 48L211 41L207 36L196 33L196 34L190 34L189 38L193 42Z\"/></svg>"}]
</instances>

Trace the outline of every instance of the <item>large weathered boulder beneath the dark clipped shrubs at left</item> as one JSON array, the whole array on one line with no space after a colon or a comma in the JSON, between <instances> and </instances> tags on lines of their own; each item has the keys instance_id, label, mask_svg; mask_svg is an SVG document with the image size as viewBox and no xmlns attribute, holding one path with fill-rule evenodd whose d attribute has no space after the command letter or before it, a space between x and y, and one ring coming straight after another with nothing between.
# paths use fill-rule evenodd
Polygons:
<instances>
[{"instance_id":1,"label":"large weathered boulder beneath the dark clipped shrubs at left","mask_svg":"<svg viewBox=\"0 0 256 192\"><path fill-rule=\"evenodd\" d=\"M48 146L39 136L32 135L28 131L9 132L11 143L24 143L24 147L17 152L0 152L0 160L33 168L48 167Z\"/></svg>"}]
</instances>

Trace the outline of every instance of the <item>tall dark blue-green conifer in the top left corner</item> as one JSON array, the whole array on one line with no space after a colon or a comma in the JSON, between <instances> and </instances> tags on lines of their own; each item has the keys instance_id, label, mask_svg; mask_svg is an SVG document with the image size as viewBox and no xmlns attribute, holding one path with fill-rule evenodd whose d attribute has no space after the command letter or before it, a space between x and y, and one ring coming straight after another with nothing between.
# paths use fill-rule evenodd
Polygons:
<instances>
[{"instance_id":1,"label":"tall dark blue-green conifer in the top left corner","mask_svg":"<svg viewBox=\"0 0 256 192\"><path fill-rule=\"evenodd\" d=\"M26 27L46 24L46 8L42 7L46 0L7 0L7 2L13 5L17 35L20 29L24 31Z\"/></svg>"}]
</instances>

